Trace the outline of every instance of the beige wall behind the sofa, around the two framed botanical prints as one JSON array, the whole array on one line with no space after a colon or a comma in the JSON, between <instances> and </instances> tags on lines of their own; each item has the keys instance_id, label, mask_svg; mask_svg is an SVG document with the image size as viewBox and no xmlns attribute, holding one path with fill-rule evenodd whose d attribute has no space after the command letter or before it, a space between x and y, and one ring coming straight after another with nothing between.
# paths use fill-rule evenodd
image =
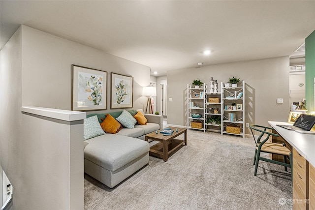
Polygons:
<instances>
[{"instance_id":1,"label":"beige wall behind the sofa, around the two framed botanical prints","mask_svg":"<svg viewBox=\"0 0 315 210\"><path fill-rule=\"evenodd\" d=\"M71 64L76 64L107 71L107 110L110 73L132 76L132 109L142 108L138 99L142 87L150 85L149 67L27 26L22 28L23 105L71 110Z\"/></svg>"}]
</instances>

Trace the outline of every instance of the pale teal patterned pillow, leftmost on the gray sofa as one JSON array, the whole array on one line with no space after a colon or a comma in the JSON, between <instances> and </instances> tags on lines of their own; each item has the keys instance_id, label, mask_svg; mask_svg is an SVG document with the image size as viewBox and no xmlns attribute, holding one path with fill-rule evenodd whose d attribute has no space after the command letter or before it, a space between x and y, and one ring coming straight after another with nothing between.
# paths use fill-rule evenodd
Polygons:
<instances>
[{"instance_id":1,"label":"pale teal patterned pillow, leftmost on the gray sofa","mask_svg":"<svg viewBox=\"0 0 315 210\"><path fill-rule=\"evenodd\" d=\"M101 128L97 116L93 116L83 120L83 138L91 139L95 136L104 135L105 132Z\"/></svg>"}]
</instances>

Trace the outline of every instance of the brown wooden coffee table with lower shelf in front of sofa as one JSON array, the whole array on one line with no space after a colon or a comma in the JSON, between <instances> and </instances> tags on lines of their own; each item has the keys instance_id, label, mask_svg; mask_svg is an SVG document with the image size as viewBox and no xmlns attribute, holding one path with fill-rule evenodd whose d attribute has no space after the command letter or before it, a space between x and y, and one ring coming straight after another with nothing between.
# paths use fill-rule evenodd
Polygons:
<instances>
[{"instance_id":1,"label":"brown wooden coffee table with lower shelf in front of sofa","mask_svg":"<svg viewBox=\"0 0 315 210\"><path fill-rule=\"evenodd\" d=\"M158 130L158 134L156 132L152 132L147 134L145 137L146 141L149 142L149 139L154 141L158 141L159 143L150 147L149 154L151 156L162 158L165 162L170 153L177 151L182 145L187 146L187 128L178 128L178 127L168 127L174 130L172 135L164 136L160 133L161 130ZM178 132L176 132L176 129ZM185 140L175 139L177 136L183 134L185 135Z\"/></svg>"}]
</instances>

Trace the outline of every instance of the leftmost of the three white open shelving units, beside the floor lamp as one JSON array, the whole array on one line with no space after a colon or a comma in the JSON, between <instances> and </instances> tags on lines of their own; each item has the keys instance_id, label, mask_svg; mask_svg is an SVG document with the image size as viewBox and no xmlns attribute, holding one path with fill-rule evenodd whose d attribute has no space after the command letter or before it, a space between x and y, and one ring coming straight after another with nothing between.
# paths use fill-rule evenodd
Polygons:
<instances>
[{"instance_id":1,"label":"leftmost of the three white open shelving units, beside the floor lamp","mask_svg":"<svg viewBox=\"0 0 315 210\"><path fill-rule=\"evenodd\" d=\"M194 130L206 131L206 116L205 116L205 92L207 91L207 85L203 84L203 87L192 88L190 84L187 85L187 127ZM202 92L201 97L196 95ZM194 107L192 104L197 104L197 107ZM192 118L192 114L200 114L201 118ZM191 127L191 122L201 122L202 128Z\"/></svg>"}]
</instances>

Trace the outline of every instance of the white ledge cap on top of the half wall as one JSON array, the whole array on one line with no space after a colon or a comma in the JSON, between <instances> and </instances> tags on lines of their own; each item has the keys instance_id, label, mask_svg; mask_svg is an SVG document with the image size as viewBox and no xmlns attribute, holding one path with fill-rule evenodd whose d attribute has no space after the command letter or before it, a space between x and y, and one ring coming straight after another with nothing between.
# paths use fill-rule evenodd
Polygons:
<instances>
[{"instance_id":1,"label":"white ledge cap on top of the half wall","mask_svg":"<svg viewBox=\"0 0 315 210\"><path fill-rule=\"evenodd\" d=\"M44 116L48 118L54 118L64 121L75 121L75 120L84 120L87 118L85 112L78 111L69 111L62 109L51 109L44 107L35 107L35 106L22 106L21 112L31 113L34 115Z\"/></svg>"}]
</instances>

